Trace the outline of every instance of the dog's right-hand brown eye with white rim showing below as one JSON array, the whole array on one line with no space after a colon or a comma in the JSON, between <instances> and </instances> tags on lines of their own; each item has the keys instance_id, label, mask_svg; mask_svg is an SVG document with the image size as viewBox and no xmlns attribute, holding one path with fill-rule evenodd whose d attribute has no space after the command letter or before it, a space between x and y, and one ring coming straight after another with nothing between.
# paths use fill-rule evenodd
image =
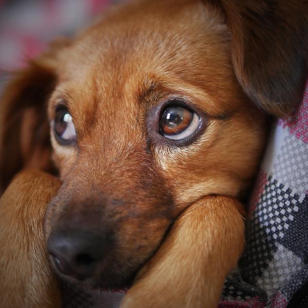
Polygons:
<instances>
[{"instance_id":1,"label":"dog's right-hand brown eye with white rim showing below","mask_svg":"<svg viewBox=\"0 0 308 308\"><path fill-rule=\"evenodd\" d=\"M167 106L162 112L160 129L168 139L181 140L197 131L200 119L196 112L182 105Z\"/></svg>"}]
</instances>

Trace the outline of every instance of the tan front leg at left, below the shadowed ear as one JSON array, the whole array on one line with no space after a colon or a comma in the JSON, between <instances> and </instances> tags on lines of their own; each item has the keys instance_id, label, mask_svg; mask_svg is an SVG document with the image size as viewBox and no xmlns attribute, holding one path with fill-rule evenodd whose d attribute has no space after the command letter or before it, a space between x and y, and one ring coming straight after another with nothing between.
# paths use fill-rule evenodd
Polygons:
<instances>
[{"instance_id":1,"label":"tan front leg at left, below the shadowed ear","mask_svg":"<svg viewBox=\"0 0 308 308\"><path fill-rule=\"evenodd\" d=\"M60 306L43 234L46 207L59 185L43 172L22 171L0 199L0 307Z\"/></svg>"}]
</instances>

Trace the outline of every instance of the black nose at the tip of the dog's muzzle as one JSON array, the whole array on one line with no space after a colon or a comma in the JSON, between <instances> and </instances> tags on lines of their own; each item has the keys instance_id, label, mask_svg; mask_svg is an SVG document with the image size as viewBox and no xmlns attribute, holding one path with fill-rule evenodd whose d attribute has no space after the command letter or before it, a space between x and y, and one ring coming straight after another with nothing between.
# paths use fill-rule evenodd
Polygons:
<instances>
[{"instance_id":1,"label":"black nose at the tip of the dog's muzzle","mask_svg":"<svg viewBox=\"0 0 308 308\"><path fill-rule=\"evenodd\" d=\"M62 274L84 280L94 275L111 243L111 236L105 233L54 228L47 249Z\"/></svg>"}]
</instances>

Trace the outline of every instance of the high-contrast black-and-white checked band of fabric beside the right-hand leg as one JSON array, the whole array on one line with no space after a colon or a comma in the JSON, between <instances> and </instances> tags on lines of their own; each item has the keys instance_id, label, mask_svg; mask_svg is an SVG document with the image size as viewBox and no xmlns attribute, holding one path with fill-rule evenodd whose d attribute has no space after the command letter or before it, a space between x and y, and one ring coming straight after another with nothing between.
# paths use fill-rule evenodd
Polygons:
<instances>
[{"instance_id":1,"label":"high-contrast black-and-white checked band of fabric beside the right-hand leg","mask_svg":"<svg viewBox=\"0 0 308 308\"><path fill-rule=\"evenodd\" d=\"M246 281L256 283L277 251L275 240L283 238L298 211L298 195L268 177L264 192L246 227L247 243L240 262ZM252 279L253 277L253 279Z\"/></svg>"}]
</instances>

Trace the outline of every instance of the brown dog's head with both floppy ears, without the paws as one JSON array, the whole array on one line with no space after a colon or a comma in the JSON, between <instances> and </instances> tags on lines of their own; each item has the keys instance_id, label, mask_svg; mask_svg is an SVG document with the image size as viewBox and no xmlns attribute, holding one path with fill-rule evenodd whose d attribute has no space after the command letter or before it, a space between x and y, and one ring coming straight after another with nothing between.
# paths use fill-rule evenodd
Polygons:
<instances>
[{"instance_id":1,"label":"brown dog's head with both floppy ears, without the paws","mask_svg":"<svg viewBox=\"0 0 308 308\"><path fill-rule=\"evenodd\" d=\"M45 227L62 274L123 286L185 207L241 195L262 109L284 115L301 95L306 6L141 1L18 74L2 102L1 183L24 166L59 171Z\"/></svg>"}]
</instances>

